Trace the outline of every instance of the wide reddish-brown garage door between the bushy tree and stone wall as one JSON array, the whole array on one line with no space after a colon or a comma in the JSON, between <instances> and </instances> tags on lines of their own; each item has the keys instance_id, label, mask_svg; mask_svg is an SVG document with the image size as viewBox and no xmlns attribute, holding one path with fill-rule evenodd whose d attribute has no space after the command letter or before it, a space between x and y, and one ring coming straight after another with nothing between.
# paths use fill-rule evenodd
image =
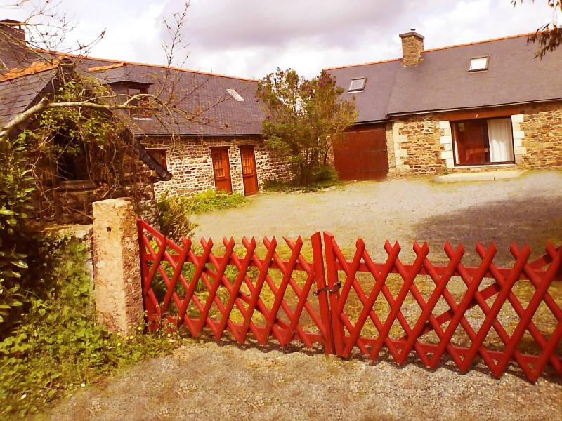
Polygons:
<instances>
[{"instance_id":1,"label":"wide reddish-brown garage door between the bushy tree and stone wall","mask_svg":"<svg viewBox=\"0 0 562 421\"><path fill-rule=\"evenodd\" d=\"M340 180L382 180L388 174L384 126L346 133L346 142L334 148Z\"/></svg>"}]
</instances>

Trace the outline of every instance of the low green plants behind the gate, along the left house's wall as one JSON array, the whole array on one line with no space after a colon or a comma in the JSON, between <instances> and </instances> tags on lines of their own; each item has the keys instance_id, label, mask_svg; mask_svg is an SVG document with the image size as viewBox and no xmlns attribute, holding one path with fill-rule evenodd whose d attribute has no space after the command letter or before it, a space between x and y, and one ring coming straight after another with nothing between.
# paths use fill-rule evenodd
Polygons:
<instances>
[{"instance_id":1,"label":"low green plants behind the gate, along the left house's wall","mask_svg":"<svg viewBox=\"0 0 562 421\"><path fill-rule=\"evenodd\" d=\"M246 202L246 197L240 193L228 194L212 189L192 196L170 196L164 192L157 203L160 230L173 241L179 241L182 236L191 236L197 227L190 221L192 214L233 208Z\"/></svg>"}]
</instances>

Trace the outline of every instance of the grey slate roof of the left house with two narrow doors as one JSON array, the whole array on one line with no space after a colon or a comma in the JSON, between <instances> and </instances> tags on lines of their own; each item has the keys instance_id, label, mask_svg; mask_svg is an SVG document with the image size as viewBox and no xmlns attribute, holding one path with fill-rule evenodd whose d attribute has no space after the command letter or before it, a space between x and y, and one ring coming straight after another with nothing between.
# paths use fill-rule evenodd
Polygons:
<instances>
[{"instance_id":1,"label":"grey slate roof of the left house with two narrow doors","mask_svg":"<svg viewBox=\"0 0 562 421\"><path fill-rule=\"evenodd\" d=\"M79 66L107 83L145 83L148 93L157 93L164 81L161 99L183 110L174 118L131 121L131 130L146 135L260 135L265 116L256 98L258 81L205 72L98 58L81 58ZM101 69L96 69L101 68ZM103 67L108 67L103 69ZM235 100L227 89L235 89L244 101Z\"/></svg>"}]
</instances>

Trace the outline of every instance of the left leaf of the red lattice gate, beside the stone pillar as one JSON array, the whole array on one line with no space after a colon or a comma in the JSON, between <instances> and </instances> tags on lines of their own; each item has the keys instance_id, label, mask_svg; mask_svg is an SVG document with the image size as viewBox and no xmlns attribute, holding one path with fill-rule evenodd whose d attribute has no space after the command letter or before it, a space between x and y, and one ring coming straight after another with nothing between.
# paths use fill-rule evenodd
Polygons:
<instances>
[{"instance_id":1,"label":"left leaf of the red lattice gate, beside the stone pillar","mask_svg":"<svg viewBox=\"0 0 562 421\"><path fill-rule=\"evenodd\" d=\"M143 298L149 328L186 326L193 336L209 329L216 340L230 333L243 344L251 333L259 344L271 336L280 345L292 340L313 347L324 345L331 354L328 302L320 233L312 237L314 262L301 253L303 241L285 239L290 255L277 253L277 240L263 239L265 256L256 253L255 239L223 239L223 253L213 253L212 240L201 240L197 253L191 239L182 246L138 220ZM239 255L240 253L240 255Z\"/></svg>"}]
</instances>

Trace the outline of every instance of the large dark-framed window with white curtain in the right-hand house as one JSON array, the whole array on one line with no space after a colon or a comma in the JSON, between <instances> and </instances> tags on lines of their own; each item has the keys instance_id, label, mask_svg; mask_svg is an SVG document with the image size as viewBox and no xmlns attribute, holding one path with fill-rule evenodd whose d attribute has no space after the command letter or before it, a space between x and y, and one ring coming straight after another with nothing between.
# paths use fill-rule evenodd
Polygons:
<instances>
[{"instance_id":1,"label":"large dark-framed window with white curtain in the right-hand house","mask_svg":"<svg viewBox=\"0 0 562 421\"><path fill-rule=\"evenodd\" d=\"M511 117L452 121L455 165L514 162Z\"/></svg>"}]
</instances>

